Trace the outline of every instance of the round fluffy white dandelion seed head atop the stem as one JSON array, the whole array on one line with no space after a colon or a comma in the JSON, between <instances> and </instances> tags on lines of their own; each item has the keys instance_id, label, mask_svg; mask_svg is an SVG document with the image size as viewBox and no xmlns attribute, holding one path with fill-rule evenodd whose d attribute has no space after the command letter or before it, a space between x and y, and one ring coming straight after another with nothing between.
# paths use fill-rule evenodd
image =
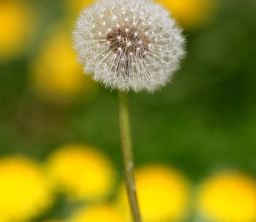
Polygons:
<instances>
[{"instance_id":1,"label":"round fluffy white dandelion seed head atop the stem","mask_svg":"<svg viewBox=\"0 0 256 222\"><path fill-rule=\"evenodd\" d=\"M159 89L185 54L181 29L151 0L95 2L81 12L73 38L85 72L121 91Z\"/></svg>"}]
</instances>

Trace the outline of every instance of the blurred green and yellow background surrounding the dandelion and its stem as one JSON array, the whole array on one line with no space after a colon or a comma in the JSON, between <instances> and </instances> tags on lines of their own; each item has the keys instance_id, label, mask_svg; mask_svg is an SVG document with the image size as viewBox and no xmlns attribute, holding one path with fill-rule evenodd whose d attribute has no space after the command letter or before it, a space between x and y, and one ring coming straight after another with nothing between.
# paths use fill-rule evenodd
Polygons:
<instances>
[{"instance_id":1,"label":"blurred green and yellow background surrounding the dandelion and its stem","mask_svg":"<svg viewBox=\"0 0 256 222\"><path fill-rule=\"evenodd\" d=\"M117 93L72 49L92 2L0 1L0 222L131 221ZM173 83L130 95L142 217L256 221L256 2L158 2L188 53Z\"/></svg>"}]
</instances>

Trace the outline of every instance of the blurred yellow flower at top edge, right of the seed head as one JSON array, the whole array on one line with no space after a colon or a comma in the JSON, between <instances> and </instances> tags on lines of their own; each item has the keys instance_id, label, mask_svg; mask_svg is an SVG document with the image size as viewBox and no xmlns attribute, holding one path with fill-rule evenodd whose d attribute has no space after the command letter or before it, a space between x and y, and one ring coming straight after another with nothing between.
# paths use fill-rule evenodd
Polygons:
<instances>
[{"instance_id":1,"label":"blurred yellow flower at top edge, right of the seed head","mask_svg":"<svg viewBox=\"0 0 256 222\"><path fill-rule=\"evenodd\" d=\"M185 28L204 24L212 16L217 0L157 0L170 9Z\"/></svg>"}]
</instances>

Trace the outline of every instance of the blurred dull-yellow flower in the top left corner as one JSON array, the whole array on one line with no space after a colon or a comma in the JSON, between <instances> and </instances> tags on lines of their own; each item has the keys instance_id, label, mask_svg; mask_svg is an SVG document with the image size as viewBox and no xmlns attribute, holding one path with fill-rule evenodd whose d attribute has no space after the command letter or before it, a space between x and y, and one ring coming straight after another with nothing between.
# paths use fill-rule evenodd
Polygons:
<instances>
[{"instance_id":1,"label":"blurred dull-yellow flower in the top left corner","mask_svg":"<svg viewBox=\"0 0 256 222\"><path fill-rule=\"evenodd\" d=\"M0 1L0 59L22 53L33 29L33 12L27 1Z\"/></svg>"}]
</instances>

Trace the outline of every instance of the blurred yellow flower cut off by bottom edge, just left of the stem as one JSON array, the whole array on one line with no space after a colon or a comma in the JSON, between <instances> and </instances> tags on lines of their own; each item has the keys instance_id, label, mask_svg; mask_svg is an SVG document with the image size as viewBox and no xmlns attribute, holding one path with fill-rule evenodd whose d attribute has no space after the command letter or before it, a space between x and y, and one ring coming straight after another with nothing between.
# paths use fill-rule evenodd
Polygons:
<instances>
[{"instance_id":1,"label":"blurred yellow flower cut off by bottom edge, just left of the stem","mask_svg":"<svg viewBox=\"0 0 256 222\"><path fill-rule=\"evenodd\" d=\"M78 210L69 222L123 222L121 214L111 205L92 206Z\"/></svg>"}]
</instances>

